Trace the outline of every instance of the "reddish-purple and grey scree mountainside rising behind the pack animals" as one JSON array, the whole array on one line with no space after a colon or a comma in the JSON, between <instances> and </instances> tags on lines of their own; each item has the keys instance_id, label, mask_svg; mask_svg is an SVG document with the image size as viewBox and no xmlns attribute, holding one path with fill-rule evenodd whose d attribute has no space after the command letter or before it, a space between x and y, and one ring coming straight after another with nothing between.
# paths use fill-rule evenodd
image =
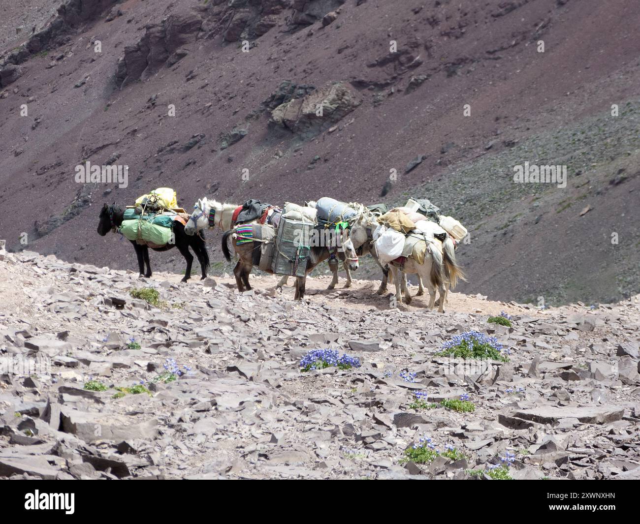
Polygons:
<instances>
[{"instance_id":1,"label":"reddish-purple and grey scree mountainside rising behind the pack animals","mask_svg":"<svg viewBox=\"0 0 640 524\"><path fill-rule=\"evenodd\" d=\"M5 4L10 250L131 268L130 246L95 234L95 205L159 186L186 207L411 195L468 226L465 292L640 290L632 0L68 0L26 21ZM129 166L127 187L78 184L86 161ZM525 162L565 165L566 187L515 184Z\"/></svg>"}]
</instances>

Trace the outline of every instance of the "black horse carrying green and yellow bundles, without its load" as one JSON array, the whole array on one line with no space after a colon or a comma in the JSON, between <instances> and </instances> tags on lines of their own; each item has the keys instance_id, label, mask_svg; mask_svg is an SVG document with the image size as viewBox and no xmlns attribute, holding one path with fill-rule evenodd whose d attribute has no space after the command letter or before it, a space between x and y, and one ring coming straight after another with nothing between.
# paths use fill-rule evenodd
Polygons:
<instances>
[{"instance_id":1,"label":"black horse carrying green and yellow bundles, without its load","mask_svg":"<svg viewBox=\"0 0 640 524\"><path fill-rule=\"evenodd\" d=\"M98 224L98 234L104 237L110 230L115 230L116 227L122 224L122 218L124 215L124 209L114 205L102 206L100 210L100 223ZM193 255L189 251L189 248L193 250L198 257L200 267L202 267L202 278L207 276L207 269L209 268L209 253L207 253L207 246L201 236L202 232L198 235L187 235L184 232L184 225L177 220L173 221L173 236L175 241L171 244L166 244L162 248L152 248L154 251L168 251L173 246L178 248L178 251L182 254L187 261L187 269L184 271L184 278L182 282L187 282L191 278L191 264L193 264ZM151 276L151 266L149 264L149 248L146 245L136 244L135 241L130 241L136 250L136 256L138 257L138 267L140 268L140 276ZM145 273L145 264L147 264L147 273Z\"/></svg>"}]
</instances>

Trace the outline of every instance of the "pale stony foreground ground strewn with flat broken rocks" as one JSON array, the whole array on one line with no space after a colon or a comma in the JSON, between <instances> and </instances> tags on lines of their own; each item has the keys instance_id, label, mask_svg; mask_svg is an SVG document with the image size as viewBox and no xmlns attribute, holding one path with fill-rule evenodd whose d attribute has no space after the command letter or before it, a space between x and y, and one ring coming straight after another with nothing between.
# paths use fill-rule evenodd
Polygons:
<instances>
[{"instance_id":1,"label":"pale stony foreground ground strewn with flat broken rocks","mask_svg":"<svg viewBox=\"0 0 640 524\"><path fill-rule=\"evenodd\" d=\"M537 310L454 293L435 314L362 280L312 279L303 303L271 276L244 294L178 280L0 251L0 477L639 478L640 296ZM487 322L502 311L510 328ZM468 331L508 361L436 355ZM326 347L360 367L301 372ZM440 405L461 397L474 411ZM403 461L420 438L439 456Z\"/></svg>"}]
</instances>

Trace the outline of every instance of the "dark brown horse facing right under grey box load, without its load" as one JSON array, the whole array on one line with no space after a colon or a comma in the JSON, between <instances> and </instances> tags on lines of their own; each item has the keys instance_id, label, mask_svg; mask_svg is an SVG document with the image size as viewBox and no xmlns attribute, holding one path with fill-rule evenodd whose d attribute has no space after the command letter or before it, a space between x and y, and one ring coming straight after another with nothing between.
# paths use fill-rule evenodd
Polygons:
<instances>
[{"instance_id":1,"label":"dark brown horse facing right under grey box load, without its load","mask_svg":"<svg viewBox=\"0 0 640 524\"><path fill-rule=\"evenodd\" d=\"M253 225L253 227L262 228L268 226ZM229 249L230 244L239 256L240 259L238 260L236 267L234 267L234 276L236 276L238 290L243 292L245 290L252 289L249 284L249 274L253 267L253 250L259 250L262 244L259 241L237 244L236 236L236 228L227 231L222 236L222 253L225 255L227 261L231 262L231 253ZM351 239L349 238L349 231L347 229L340 231L339 235L337 235L335 244L335 246L312 245L310 247L305 276L296 276L296 294L294 299L301 300L305 297L307 275L311 273L314 267L320 264L320 262L329 258L332 253L335 253L336 251L344 253L346 260L348 260L349 268L352 271L358 269L358 255L356 255L356 250L353 247L353 242L351 242ZM268 271L268 273L273 274L272 271Z\"/></svg>"}]
</instances>

